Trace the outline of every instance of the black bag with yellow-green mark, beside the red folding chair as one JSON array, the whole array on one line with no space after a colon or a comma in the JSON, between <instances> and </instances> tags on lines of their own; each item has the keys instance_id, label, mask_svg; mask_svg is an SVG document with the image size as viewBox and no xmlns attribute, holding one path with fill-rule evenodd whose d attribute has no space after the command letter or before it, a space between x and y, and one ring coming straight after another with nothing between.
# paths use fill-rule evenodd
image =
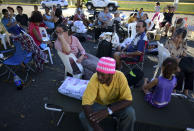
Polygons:
<instances>
[{"instance_id":1,"label":"black bag with yellow-green mark, beside the red folding chair","mask_svg":"<svg viewBox=\"0 0 194 131\"><path fill-rule=\"evenodd\" d=\"M142 81L144 78L144 73L139 68L133 68L126 74L126 78L128 80L129 86L141 87L143 85Z\"/></svg>"}]
</instances>

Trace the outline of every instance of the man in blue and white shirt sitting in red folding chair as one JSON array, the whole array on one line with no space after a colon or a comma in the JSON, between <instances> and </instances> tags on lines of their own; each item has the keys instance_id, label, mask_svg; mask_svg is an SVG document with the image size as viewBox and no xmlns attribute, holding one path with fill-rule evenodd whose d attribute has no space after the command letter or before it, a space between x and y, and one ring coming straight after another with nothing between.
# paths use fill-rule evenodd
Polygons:
<instances>
[{"instance_id":1,"label":"man in blue and white shirt sitting in red folding chair","mask_svg":"<svg viewBox=\"0 0 194 131\"><path fill-rule=\"evenodd\" d=\"M117 62L117 69L121 68L121 60L127 62L138 62L140 56L144 53L145 43L147 42L146 23L142 20L138 21L136 31L137 35L132 42L122 49L122 52L114 53L114 58Z\"/></svg>"}]
</instances>

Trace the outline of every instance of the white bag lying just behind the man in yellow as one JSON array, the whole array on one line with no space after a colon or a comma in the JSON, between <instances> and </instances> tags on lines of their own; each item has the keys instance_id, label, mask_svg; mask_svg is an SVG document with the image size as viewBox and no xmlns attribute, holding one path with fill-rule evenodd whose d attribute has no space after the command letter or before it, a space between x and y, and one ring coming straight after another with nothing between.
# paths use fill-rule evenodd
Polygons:
<instances>
[{"instance_id":1,"label":"white bag lying just behind the man in yellow","mask_svg":"<svg viewBox=\"0 0 194 131\"><path fill-rule=\"evenodd\" d=\"M63 84L58 88L58 92L63 95L81 100L84 91L87 88L88 82L89 80L67 77Z\"/></svg>"}]
</instances>

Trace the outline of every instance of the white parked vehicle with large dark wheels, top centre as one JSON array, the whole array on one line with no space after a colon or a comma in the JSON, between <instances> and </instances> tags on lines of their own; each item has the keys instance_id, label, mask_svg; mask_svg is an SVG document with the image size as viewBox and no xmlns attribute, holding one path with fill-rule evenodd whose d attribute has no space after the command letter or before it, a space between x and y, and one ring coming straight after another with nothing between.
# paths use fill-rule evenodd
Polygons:
<instances>
[{"instance_id":1,"label":"white parked vehicle with large dark wheels, top centre","mask_svg":"<svg viewBox=\"0 0 194 131\"><path fill-rule=\"evenodd\" d=\"M108 7L110 11L116 11L119 6L116 1L90 0L86 3L86 7L88 10L95 10L96 8Z\"/></svg>"}]
</instances>

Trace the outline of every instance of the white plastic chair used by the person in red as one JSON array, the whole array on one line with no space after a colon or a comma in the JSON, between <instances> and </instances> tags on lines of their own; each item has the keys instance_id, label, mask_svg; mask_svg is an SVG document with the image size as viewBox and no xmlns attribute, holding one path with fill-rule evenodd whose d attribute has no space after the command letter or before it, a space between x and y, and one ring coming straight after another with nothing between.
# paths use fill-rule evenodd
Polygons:
<instances>
[{"instance_id":1,"label":"white plastic chair used by the person in red","mask_svg":"<svg viewBox=\"0 0 194 131\"><path fill-rule=\"evenodd\" d=\"M39 27L39 30L40 30L40 33L41 33L41 36L42 36L42 40L45 41L45 42L48 42L50 40L50 38L48 36L48 33L47 33L46 29L44 27ZM42 33L45 33L45 36ZM53 64L53 58L52 58L50 47L47 46L42 51L48 51L50 62L51 62L51 64Z\"/></svg>"}]
</instances>

